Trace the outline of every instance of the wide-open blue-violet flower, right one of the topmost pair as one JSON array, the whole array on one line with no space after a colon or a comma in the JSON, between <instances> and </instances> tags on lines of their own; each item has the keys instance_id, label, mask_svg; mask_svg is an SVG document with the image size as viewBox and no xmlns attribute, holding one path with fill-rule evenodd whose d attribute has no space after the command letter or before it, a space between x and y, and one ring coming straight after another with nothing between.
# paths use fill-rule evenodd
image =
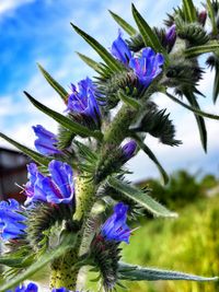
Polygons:
<instances>
[{"instance_id":1,"label":"wide-open blue-violet flower, right one of the topmost pair","mask_svg":"<svg viewBox=\"0 0 219 292\"><path fill-rule=\"evenodd\" d=\"M163 55L155 54L148 47L142 50L141 57L130 59L129 67L132 68L140 83L147 87L161 73L163 62Z\"/></svg>"}]
</instances>

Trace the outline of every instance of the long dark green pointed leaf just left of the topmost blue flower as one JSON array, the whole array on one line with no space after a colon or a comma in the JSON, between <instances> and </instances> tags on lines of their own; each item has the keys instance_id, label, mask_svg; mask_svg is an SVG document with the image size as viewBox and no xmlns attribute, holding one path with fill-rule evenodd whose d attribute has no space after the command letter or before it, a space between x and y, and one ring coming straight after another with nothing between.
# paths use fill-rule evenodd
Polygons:
<instances>
[{"instance_id":1,"label":"long dark green pointed leaf just left of the topmost blue flower","mask_svg":"<svg viewBox=\"0 0 219 292\"><path fill-rule=\"evenodd\" d=\"M100 55L104 62L108 66L112 72L120 72L125 68L92 36L80 30L71 23L74 31L85 39L85 42Z\"/></svg>"}]
</instances>

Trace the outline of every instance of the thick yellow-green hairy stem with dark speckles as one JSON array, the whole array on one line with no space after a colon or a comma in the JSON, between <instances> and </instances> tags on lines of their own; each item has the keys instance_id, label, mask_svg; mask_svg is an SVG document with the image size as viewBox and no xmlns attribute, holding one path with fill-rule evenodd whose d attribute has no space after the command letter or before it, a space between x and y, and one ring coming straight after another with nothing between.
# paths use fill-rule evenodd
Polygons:
<instances>
[{"instance_id":1,"label":"thick yellow-green hairy stem with dark speckles","mask_svg":"<svg viewBox=\"0 0 219 292\"><path fill-rule=\"evenodd\" d=\"M106 128L103 144L101 147L102 157L107 155L110 145L118 145L127 137L128 128L137 116L138 110L130 106L123 105L112 124ZM112 148L111 148L112 149ZM76 212L73 220L83 222L77 246L69 250L62 258L58 258L51 265L50 288L65 287L69 290L77 289L77 279L80 271L79 257L88 252L91 241L91 230L89 220L95 202L95 191L99 185L95 182L88 180L87 174L80 174L76 180Z\"/></svg>"}]
</instances>

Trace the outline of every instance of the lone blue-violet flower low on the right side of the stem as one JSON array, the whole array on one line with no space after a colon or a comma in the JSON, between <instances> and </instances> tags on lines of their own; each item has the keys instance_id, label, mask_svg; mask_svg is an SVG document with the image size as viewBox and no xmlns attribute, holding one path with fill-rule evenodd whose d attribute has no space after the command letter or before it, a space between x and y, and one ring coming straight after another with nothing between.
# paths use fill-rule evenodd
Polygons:
<instances>
[{"instance_id":1,"label":"lone blue-violet flower low on the right side of the stem","mask_svg":"<svg viewBox=\"0 0 219 292\"><path fill-rule=\"evenodd\" d=\"M114 213L101 227L101 235L107 241L129 243L130 229L126 224L128 206L118 202L114 207Z\"/></svg>"}]
</instances>

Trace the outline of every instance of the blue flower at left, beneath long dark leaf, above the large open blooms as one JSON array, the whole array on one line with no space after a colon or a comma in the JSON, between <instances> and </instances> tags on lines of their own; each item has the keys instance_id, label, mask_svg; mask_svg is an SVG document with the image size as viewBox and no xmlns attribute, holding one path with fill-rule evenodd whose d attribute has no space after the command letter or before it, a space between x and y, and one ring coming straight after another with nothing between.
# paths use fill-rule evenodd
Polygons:
<instances>
[{"instance_id":1,"label":"blue flower at left, beneath long dark leaf, above the large open blooms","mask_svg":"<svg viewBox=\"0 0 219 292\"><path fill-rule=\"evenodd\" d=\"M38 139L35 140L35 148L43 155L54 155L61 154L56 147L58 143L57 136L48 130L46 130L43 126L37 125L32 127L36 137Z\"/></svg>"}]
</instances>

